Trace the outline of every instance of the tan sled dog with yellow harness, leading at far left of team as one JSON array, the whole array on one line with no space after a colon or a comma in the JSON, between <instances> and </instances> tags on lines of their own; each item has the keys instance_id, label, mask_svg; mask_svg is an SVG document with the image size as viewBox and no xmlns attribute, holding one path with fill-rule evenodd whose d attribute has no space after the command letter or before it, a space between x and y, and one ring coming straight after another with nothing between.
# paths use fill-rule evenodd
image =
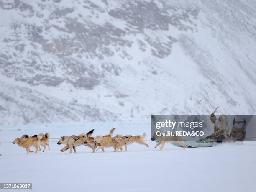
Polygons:
<instances>
[{"instance_id":1,"label":"tan sled dog with yellow harness, leading at far left of team","mask_svg":"<svg viewBox=\"0 0 256 192\"><path fill-rule=\"evenodd\" d=\"M15 140L13 141L13 144L17 143L18 146L20 147L23 147L26 149L27 151L27 154L29 152L33 152L33 151L30 151L30 147L33 146L36 151L35 153L37 153L38 151L38 146L40 144L40 139L42 138L42 136L37 136L37 137L29 137L29 138L15 138Z\"/></svg>"}]
</instances>

